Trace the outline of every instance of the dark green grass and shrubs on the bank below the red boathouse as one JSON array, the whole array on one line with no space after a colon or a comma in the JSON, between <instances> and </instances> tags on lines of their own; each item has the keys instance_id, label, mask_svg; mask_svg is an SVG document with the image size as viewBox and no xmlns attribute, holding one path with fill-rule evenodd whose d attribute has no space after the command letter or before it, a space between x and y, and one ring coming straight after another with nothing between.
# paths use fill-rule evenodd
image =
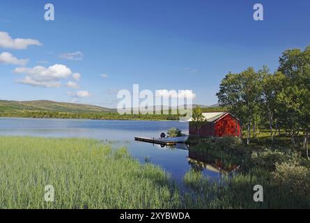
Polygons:
<instances>
[{"instance_id":1,"label":"dark green grass and shrubs on the bank below the red boathouse","mask_svg":"<svg viewBox=\"0 0 310 223\"><path fill-rule=\"evenodd\" d=\"M279 138L279 141L285 139ZM189 171L183 181L196 194L197 208L310 208L310 162L303 153L281 144L253 143L246 146L231 137L192 137L189 155L208 164L221 160L222 167L240 164L239 171L214 183L199 171ZM254 185L262 185L264 201L253 201Z\"/></svg>"}]
</instances>

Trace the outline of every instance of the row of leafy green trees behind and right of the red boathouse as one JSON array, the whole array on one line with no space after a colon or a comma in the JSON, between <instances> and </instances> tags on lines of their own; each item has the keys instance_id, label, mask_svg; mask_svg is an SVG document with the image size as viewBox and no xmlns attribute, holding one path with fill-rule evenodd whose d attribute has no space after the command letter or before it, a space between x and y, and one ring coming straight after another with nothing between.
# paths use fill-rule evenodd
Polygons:
<instances>
[{"instance_id":1,"label":"row of leafy green trees behind and right of the red boathouse","mask_svg":"<svg viewBox=\"0 0 310 223\"><path fill-rule=\"evenodd\" d=\"M279 57L279 68L270 72L247 68L229 72L217 93L219 105L238 116L247 132L247 144L256 128L268 123L270 139L285 130L293 146L307 148L310 130L310 45L306 49L288 49ZM301 137L303 136L303 137ZM300 140L302 138L302 140Z\"/></svg>"}]
</instances>

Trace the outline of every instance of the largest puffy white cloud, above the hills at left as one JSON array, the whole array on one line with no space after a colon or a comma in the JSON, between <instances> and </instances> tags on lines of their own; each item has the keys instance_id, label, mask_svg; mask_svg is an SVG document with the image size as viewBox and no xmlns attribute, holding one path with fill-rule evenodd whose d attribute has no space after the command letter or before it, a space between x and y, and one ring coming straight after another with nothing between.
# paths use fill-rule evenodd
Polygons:
<instances>
[{"instance_id":1,"label":"largest puffy white cloud, above the hills at left","mask_svg":"<svg viewBox=\"0 0 310 223\"><path fill-rule=\"evenodd\" d=\"M60 87L61 82L59 80L72 75L70 68L62 64L55 64L48 68L42 66L36 66L34 68L21 67L15 68L13 72L26 75L24 79L17 80L17 83L42 87Z\"/></svg>"}]
</instances>

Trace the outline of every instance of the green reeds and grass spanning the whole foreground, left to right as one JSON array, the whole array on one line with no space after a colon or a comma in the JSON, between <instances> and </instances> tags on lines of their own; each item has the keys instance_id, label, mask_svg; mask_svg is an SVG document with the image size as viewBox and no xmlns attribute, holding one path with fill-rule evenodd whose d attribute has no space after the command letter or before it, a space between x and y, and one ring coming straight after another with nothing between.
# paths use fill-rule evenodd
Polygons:
<instances>
[{"instance_id":1,"label":"green reeds and grass spanning the whole foreground, left to right","mask_svg":"<svg viewBox=\"0 0 310 223\"><path fill-rule=\"evenodd\" d=\"M228 143L216 142L213 155ZM198 146L203 151L206 141ZM243 154L242 148L232 149L237 157ZM0 137L0 208L310 208L303 193L307 185L301 184L307 184L309 169L289 165L266 171L258 168L263 161L284 154L263 155L251 157L258 164L248 171L223 175L219 182L193 168L183 178L183 190L162 168L139 163L125 148L112 151L107 142ZM257 184L263 185L264 202L253 200ZM45 185L53 185L54 202L44 200Z\"/></svg>"}]
</instances>

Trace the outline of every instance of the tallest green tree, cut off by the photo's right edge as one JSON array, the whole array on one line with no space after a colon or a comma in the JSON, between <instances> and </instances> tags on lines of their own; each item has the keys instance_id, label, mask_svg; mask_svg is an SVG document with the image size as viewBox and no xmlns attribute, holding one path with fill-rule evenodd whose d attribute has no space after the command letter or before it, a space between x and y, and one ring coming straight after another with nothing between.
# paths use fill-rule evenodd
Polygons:
<instances>
[{"instance_id":1,"label":"tallest green tree, cut off by the photo's right edge","mask_svg":"<svg viewBox=\"0 0 310 223\"><path fill-rule=\"evenodd\" d=\"M309 159L310 45L304 51L301 49L286 50L280 57L279 63L279 71L286 76L284 89L279 93L281 110L287 118L287 127L294 145L294 137L303 132L303 148L307 148Z\"/></svg>"}]
</instances>

